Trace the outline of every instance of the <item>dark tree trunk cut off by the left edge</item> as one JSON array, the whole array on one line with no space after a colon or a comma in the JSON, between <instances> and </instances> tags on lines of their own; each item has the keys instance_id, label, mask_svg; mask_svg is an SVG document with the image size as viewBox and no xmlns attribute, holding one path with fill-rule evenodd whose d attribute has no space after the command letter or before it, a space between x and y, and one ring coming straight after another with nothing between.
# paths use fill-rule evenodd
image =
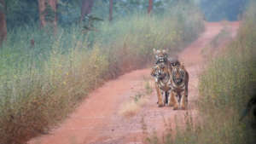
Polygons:
<instances>
[{"instance_id":1,"label":"dark tree trunk cut off by the left edge","mask_svg":"<svg viewBox=\"0 0 256 144\"><path fill-rule=\"evenodd\" d=\"M0 0L1 5L3 6L3 9L5 8L4 0ZM6 38L7 35L7 28L6 28L6 20L5 20L5 14L3 9L0 9L0 44L3 43L3 40Z\"/></svg>"}]
</instances>

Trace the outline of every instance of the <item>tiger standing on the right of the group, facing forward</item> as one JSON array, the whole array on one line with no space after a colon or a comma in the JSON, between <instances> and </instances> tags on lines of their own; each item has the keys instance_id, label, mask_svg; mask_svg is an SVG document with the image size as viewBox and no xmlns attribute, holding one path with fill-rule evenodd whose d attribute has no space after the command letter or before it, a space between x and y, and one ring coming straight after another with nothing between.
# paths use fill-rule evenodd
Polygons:
<instances>
[{"instance_id":1,"label":"tiger standing on the right of the group, facing forward","mask_svg":"<svg viewBox=\"0 0 256 144\"><path fill-rule=\"evenodd\" d=\"M171 100L173 110L188 108L188 89L189 89L189 72L186 71L183 64L179 62L172 63L171 73Z\"/></svg>"}]
</instances>

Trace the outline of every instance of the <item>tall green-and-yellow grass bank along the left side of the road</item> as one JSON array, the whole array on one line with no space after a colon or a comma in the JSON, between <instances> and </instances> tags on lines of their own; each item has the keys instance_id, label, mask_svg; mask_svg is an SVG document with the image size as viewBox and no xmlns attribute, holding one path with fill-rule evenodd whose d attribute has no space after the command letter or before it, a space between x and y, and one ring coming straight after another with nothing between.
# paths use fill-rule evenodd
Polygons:
<instances>
[{"instance_id":1,"label":"tall green-and-yellow grass bank along the left side of the road","mask_svg":"<svg viewBox=\"0 0 256 144\"><path fill-rule=\"evenodd\" d=\"M59 28L55 37L32 27L9 32L0 48L0 143L47 133L92 89L145 66L153 48L177 53L203 31L198 21L137 14L85 34L76 26Z\"/></svg>"}]
</instances>

